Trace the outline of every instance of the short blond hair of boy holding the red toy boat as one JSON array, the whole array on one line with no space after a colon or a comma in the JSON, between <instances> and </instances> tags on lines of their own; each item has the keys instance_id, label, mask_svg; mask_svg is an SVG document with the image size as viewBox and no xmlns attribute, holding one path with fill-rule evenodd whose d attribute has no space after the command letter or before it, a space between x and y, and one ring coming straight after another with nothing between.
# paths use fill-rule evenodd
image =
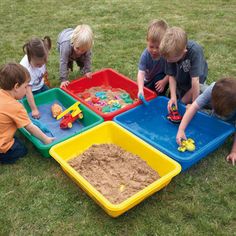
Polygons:
<instances>
[{"instance_id":1,"label":"short blond hair of boy holding the red toy boat","mask_svg":"<svg viewBox=\"0 0 236 236\"><path fill-rule=\"evenodd\" d=\"M164 58L180 56L187 46L187 34L180 27L170 27L160 44L160 54Z\"/></svg>"}]
</instances>

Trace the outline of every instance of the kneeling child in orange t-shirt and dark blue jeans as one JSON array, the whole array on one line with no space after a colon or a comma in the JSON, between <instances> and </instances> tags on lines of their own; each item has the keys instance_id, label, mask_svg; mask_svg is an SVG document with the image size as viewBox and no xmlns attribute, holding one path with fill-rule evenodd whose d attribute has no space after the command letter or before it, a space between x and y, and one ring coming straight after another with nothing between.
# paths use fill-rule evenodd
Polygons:
<instances>
[{"instance_id":1,"label":"kneeling child in orange t-shirt and dark blue jeans","mask_svg":"<svg viewBox=\"0 0 236 236\"><path fill-rule=\"evenodd\" d=\"M29 81L29 72L20 64L8 63L0 68L0 163L14 163L27 154L26 147L14 136L19 128L24 127L45 144L54 140L31 122L17 101L25 96Z\"/></svg>"}]
</instances>

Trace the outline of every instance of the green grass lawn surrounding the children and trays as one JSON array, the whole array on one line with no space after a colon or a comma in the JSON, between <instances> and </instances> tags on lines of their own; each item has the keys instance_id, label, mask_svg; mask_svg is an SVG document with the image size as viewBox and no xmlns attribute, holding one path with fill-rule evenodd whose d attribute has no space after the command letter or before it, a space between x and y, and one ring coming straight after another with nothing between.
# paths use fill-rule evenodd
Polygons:
<instances>
[{"instance_id":1,"label":"green grass lawn surrounding the children and trays","mask_svg":"<svg viewBox=\"0 0 236 236\"><path fill-rule=\"evenodd\" d=\"M236 76L235 11L233 0L1 0L0 64L19 62L28 39L49 35L53 48L47 67L58 87L57 35L86 23L95 34L93 71L110 67L135 80L147 24L164 18L204 47L210 83ZM73 72L70 79L76 76ZM57 162L43 158L19 135L29 154L0 166L0 235L236 235L236 167L224 159L232 137L165 189L113 219Z\"/></svg>"}]
</instances>

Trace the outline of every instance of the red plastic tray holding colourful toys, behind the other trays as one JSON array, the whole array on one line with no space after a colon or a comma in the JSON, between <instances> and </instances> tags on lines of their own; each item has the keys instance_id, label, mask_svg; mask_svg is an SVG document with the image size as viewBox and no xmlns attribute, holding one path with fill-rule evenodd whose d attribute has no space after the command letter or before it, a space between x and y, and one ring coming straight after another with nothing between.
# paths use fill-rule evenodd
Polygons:
<instances>
[{"instance_id":1,"label":"red plastic tray holding colourful toys, behind the other trays","mask_svg":"<svg viewBox=\"0 0 236 236\"><path fill-rule=\"evenodd\" d=\"M101 87L101 93L105 93L107 90L125 90L126 93L130 96L130 99L133 103L126 104L125 107L121 107L117 110L114 109L114 111L110 110L109 112L105 112L104 110L99 109L99 107L93 105L93 103L97 102L97 97L93 97L90 99L90 94L85 91L97 87ZM66 88L63 88L63 90L75 99L79 100L81 103L85 104L98 115L102 116L105 121L112 120L116 115L121 114L124 111L134 108L142 103L137 98L137 83L110 68L93 73L92 79L88 79L85 77L76 79L72 81ZM144 96L145 99L149 101L156 97L156 93L147 88L144 88ZM90 101L88 102L89 99Z\"/></svg>"}]
</instances>

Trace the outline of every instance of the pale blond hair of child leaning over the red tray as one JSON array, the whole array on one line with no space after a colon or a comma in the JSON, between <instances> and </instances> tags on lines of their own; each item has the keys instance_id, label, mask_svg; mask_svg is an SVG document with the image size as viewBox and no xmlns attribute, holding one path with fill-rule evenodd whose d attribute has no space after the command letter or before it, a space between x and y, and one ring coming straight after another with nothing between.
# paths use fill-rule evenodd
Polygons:
<instances>
[{"instance_id":1,"label":"pale blond hair of child leaning over the red tray","mask_svg":"<svg viewBox=\"0 0 236 236\"><path fill-rule=\"evenodd\" d=\"M93 31L89 25L78 25L71 37L71 43L76 48L90 49L93 45Z\"/></svg>"}]
</instances>

